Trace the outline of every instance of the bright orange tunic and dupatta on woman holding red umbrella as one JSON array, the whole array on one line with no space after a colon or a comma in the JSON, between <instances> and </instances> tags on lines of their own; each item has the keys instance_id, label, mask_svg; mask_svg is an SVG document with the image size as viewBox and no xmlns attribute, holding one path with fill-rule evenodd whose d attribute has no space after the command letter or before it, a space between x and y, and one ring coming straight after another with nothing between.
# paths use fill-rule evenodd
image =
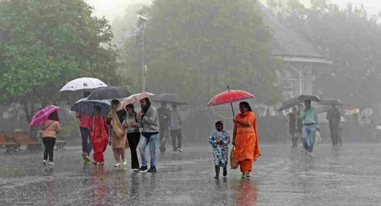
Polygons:
<instances>
[{"instance_id":1,"label":"bright orange tunic and dupatta on woman holding red umbrella","mask_svg":"<svg viewBox=\"0 0 381 206\"><path fill-rule=\"evenodd\" d=\"M238 123L234 124L234 130L236 130L234 158L238 162L245 159L255 161L256 157L261 155L258 147L255 114L253 111L248 111L246 114L239 113L236 115L235 120L249 122L250 126L243 126Z\"/></svg>"}]
</instances>

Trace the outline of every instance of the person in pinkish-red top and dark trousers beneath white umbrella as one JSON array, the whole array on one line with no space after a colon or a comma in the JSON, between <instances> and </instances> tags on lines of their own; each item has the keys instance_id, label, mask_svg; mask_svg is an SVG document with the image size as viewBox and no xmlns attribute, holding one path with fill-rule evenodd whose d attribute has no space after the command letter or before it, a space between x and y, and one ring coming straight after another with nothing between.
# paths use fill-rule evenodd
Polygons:
<instances>
[{"instance_id":1,"label":"person in pinkish-red top and dark trousers beneath white umbrella","mask_svg":"<svg viewBox=\"0 0 381 206\"><path fill-rule=\"evenodd\" d=\"M83 94L83 98L87 98L91 93L86 91ZM82 136L82 158L85 162L90 162L90 152L92 150L91 142L89 142L90 138L90 121L92 116L83 114L80 112L75 113L75 117L79 119L79 130Z\"/></svg>"}]
</instances>

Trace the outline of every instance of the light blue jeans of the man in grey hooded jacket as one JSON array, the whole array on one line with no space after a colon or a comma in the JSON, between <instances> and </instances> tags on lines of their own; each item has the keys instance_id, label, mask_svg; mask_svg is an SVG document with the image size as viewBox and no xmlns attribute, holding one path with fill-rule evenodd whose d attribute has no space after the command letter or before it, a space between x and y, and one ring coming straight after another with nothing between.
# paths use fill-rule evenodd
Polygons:
<instances>
[{"instance_id":1,"label":"light blue jeans of the man in grey hooded jacket","mask_svg":"<svg viewBox=\"0 0 381 206\"><path fill-rule=\"evenodd\" d=\"M146 138L144 136L141 136L141 165L147 166L147 157L145 154L145 148L149 144L149 153L151 155L151 167L156 167L156 143L157 139L159 138L159 134L151 135L149 138Z\"/></svg>"}]
</instances>

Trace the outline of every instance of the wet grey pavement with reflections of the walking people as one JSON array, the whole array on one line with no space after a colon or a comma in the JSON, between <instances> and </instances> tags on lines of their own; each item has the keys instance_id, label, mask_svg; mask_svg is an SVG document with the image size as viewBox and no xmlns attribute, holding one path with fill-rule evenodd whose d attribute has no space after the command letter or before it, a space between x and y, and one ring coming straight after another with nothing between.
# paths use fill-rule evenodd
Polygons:
<instances>
[{"instance_id":1,"label":"wet grey pavement with reflections of the walking people","mask_svg":"<svg viewBox=\"0 0 381 206\"><path fill-rule=\"evenodd\" d=\"M84 164L80 148L55 151L53 167L42 153L0 152L0 205L160 206L380 206L381 145L261 145L250 179L239 170L215 180L210 147L158 156L158 173ZM130 157L129 151L127 157Z\"/></svg>"}]
</instances>

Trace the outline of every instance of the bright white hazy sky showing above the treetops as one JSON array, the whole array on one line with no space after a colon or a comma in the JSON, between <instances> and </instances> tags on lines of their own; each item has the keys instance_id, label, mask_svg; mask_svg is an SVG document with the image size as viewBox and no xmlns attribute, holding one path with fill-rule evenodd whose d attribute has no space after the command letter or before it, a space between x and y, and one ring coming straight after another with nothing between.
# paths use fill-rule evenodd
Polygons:
<instances>
[{"instance_id":1,"label":"bright white hazy sky showing above the treetops","mask_svg":"<svg viewBox=\"0 0 381 206\"><path fill-rule=\"evenodd\" d=\"M265 3L267 0L260 0ZM309 0L301 0L309 2ZM125 8L129 4L138 2L151 2L151 0L87 0L87 2L94 6L94 14L98 17L106 16L109 21L113 21L117 16L123 16ZM331 0L340 6L345 6L348 2L354 5L364 4L368 13L375 14L381 11L381 0Z\"/></svg>"}]
</instances>

